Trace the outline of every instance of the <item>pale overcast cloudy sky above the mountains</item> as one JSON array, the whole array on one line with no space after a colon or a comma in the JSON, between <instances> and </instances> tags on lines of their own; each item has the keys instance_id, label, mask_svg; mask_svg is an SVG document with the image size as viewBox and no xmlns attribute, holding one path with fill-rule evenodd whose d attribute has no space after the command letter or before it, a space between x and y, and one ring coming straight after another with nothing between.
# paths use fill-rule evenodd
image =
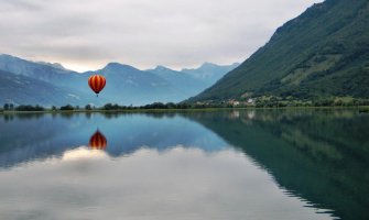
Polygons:
<instances>
[{"instance_id":1,"label":"pale overcast cloudy sky above the mountains","mask_svg":"<svg viewBox=\"0 0 369 220\"><path fill-rule=\"evenodd\" d=\"M1 0L0 54L78 72L243 62L323 0Z\"/></svg>"}]
</instances>

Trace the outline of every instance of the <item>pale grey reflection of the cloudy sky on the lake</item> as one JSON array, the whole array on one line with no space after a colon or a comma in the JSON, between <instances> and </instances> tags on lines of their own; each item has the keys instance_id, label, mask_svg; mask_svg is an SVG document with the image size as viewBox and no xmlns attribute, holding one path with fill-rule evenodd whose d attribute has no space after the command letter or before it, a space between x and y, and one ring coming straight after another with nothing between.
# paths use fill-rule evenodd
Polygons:
<instances>
[{"instance_id":1,"label":"pale grey reflection of the cloudy sky on the lake","mask_svg":"<svg viewBox=\"0 0 369 220\"><path fill-rule=\"evenodd\" d=\"M82 146L0 179L3 219L332 219L235 150L143 147L111 160Z\"/></svg>"}]
</instances>

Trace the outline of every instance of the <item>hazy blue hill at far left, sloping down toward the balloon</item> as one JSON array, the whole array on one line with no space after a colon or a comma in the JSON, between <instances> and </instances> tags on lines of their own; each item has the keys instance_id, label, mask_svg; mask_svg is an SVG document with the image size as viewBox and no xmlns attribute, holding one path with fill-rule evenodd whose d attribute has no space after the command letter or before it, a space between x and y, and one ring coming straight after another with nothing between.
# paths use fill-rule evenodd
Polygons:
<instances>
[{"instance_id":1,"label":"hazy blue hill at far left, sloping down toward the balloon","mask_svg":"<svg viewBox=\"0 0 369 220\"><path fill-rule=\"evenodd\" d=\"M73 70L65 69L57 64L29 62L11 55L0 55L1 75L0 105L13 100L18 105L63 106L87 103L101 105L107 99L96 99L86 87L86 77ZM17 76L18 88L10 89ZM14 75L14 76L13 76ZM24 81L23 81L24 80ZM8 85L10 84L10 85ZM26 86L25 86L26 85ZM15 90L14 90L15 89ZM14 94L13 94L14 92ZM55 97L55 98L53 98Z\"/></svg>"}]
</instances>

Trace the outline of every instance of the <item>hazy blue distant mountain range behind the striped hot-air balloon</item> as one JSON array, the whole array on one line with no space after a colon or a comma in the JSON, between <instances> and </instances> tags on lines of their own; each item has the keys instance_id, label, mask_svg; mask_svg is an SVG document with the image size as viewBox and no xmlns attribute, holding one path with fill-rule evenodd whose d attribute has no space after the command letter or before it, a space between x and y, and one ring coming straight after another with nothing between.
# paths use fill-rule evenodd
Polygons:
<instances>
[{"instance_id":1,"label":"hazy blue distant mountain range behind the striped hot-air balloon","mask_svg":"<svg viewBox=\"0 0 369 220\"><path fill-rule=\"evenodd\" d=\"M76 73L57 63L30 62L2 54L0 105L101 106L112 102L140 106L158 101L178 102L197 95L236 66L206 63L187 74L163 66L140 70L129 65L109 63L98 70ZM107 78L107 86L99 98L87 85L93 74ZM203 77L204 74L206 77Z\"/></svg>"}]
</instances>

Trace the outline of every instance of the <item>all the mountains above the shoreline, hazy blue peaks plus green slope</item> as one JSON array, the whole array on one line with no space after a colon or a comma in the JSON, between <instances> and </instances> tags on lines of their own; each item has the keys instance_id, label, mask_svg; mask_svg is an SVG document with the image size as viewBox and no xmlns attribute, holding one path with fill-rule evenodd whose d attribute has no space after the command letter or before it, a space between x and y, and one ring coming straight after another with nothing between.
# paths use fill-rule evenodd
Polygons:
<instances>
[{"instance_id":1,"label":"all the mountains above the shoreline, hazy blue peaks plus green slope","mask_svg":"<svg viewBox=\"0 0 369 220\"><path fill-rule=\"evenodd\" d=\"M369 99L368 23L368 0L326 0L279 28L242 64L205 63L195 69L158 66L140 70L109 63L96 72L76 73L59 64L0 55L0 103L32 100L46 106L106 102L139 106L185 99L187 102L267 97L305 101ZM96 73L108 81L98 99L91 96L86 82ZM28 84L37 86L24 86Z\"/></svg>"}]
</instances>

